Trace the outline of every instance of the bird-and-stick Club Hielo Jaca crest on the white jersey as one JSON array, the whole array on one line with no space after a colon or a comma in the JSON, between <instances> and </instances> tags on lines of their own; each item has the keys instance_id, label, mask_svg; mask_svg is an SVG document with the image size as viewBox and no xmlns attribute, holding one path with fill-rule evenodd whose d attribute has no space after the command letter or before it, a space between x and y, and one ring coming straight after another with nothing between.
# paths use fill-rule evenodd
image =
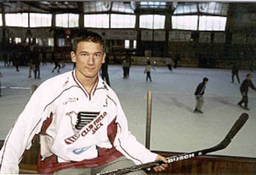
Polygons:
<instances>
[{"instance_id":1,"label":"bird-and-stick Club Hielo Jaca crest on the white jersey","mask_svg":"<svg viewBox=\"0 0 256 175\"><path fill-rule=\"evenodd\" d=\"M88 132L92 132L95 134L98 129L103 126L101 120L105 118L107 115L106 112L103 112L100 115L100 112L79 112L76 113L74 111L66 113L66 116L70 117L70 121L72 124L72 128L74 130L74 135L65 139L66 144L72 144L77 140L80 136L84 137L88 134ZM96 118L96 119L95 119ZM91 121L94 120L92 123Z\"/></svg>"}]
</instances>

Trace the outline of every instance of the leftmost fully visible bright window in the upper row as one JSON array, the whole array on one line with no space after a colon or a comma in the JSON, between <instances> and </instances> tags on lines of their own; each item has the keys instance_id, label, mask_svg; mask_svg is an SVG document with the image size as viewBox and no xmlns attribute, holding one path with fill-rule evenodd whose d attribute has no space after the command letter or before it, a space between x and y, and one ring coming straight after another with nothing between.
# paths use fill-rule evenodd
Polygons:
<instances>
[{"instance_id":1,"label":"leftmost fully visible bright window in the upper row","mask_svg":"<svg viewBox=\"0 0 256 175\"><path fill-rule=\"evenodd\" d=\"M28 14L6 14L6 26L28 27Z\"/></svg>"}]
</instances>

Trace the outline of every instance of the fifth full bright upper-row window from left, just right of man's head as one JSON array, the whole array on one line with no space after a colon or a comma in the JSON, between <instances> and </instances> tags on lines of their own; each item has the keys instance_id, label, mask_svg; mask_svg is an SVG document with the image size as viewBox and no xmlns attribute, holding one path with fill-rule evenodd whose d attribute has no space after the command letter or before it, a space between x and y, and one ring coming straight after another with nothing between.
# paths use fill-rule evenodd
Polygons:
<instances>
[{"instance_id":1,"label":"fifth full bright upper-row window from left, just right of man's head","mask_svg":"<svg viewBox=\"0 0 256 175\"><path fill-rule=\"evenodd\" d=\"M111 28L135 28L135 15L111 14Z\"/></svg>"}]
</instances>

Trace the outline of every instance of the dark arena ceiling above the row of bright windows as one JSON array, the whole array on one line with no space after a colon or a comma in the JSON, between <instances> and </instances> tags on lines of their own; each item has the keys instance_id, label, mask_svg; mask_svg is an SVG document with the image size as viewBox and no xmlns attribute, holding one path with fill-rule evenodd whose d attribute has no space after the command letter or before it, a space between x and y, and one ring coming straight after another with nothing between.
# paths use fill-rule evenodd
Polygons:
<instances>
[{"instance_id":1,"label":"dark arena ceiling above the row of bright windows","mask_svg":"<svg viewBox=\"0 0 256 175\"><path fill-rule=\"evenodd\" d=\"M12 13L12 12L40 12L40 13L102 13L112 12L113 8L118 9L117 12L124 14L133 13L166 13L173 12L178 4L188 3L208 3L209 1L31 1L31 0L0 0L1 12ZM226 1L214 1L229 3L229 12L237 10L246 11L249 13L256 13L256 1L252 0L226 0ZM115 11L116 12L116 11Z\"/></svg>"}]
</instances>

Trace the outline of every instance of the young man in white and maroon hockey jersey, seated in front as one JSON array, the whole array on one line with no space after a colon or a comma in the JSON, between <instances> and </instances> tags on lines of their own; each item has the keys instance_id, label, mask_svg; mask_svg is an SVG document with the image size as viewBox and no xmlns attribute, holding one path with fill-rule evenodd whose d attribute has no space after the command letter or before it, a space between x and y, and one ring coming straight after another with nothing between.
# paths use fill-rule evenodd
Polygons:
<instances>
[{"instance_id":1,"label":"young man in white and maroon hockey jersey, seated in front","mask_svg":"<svg viewBox=\"0 0 256 175\"><path fill-rule=\"evenodd\" d=\"M81 33L74 38L70 55L75 70L42 83L7 135L0 173L19 173L19 161L36 134L40 135L38 173L96 174L134 163L166 162L130 134L119 99L98 76L106 56L101 36Z\"/></svg>"}]
</instances>

